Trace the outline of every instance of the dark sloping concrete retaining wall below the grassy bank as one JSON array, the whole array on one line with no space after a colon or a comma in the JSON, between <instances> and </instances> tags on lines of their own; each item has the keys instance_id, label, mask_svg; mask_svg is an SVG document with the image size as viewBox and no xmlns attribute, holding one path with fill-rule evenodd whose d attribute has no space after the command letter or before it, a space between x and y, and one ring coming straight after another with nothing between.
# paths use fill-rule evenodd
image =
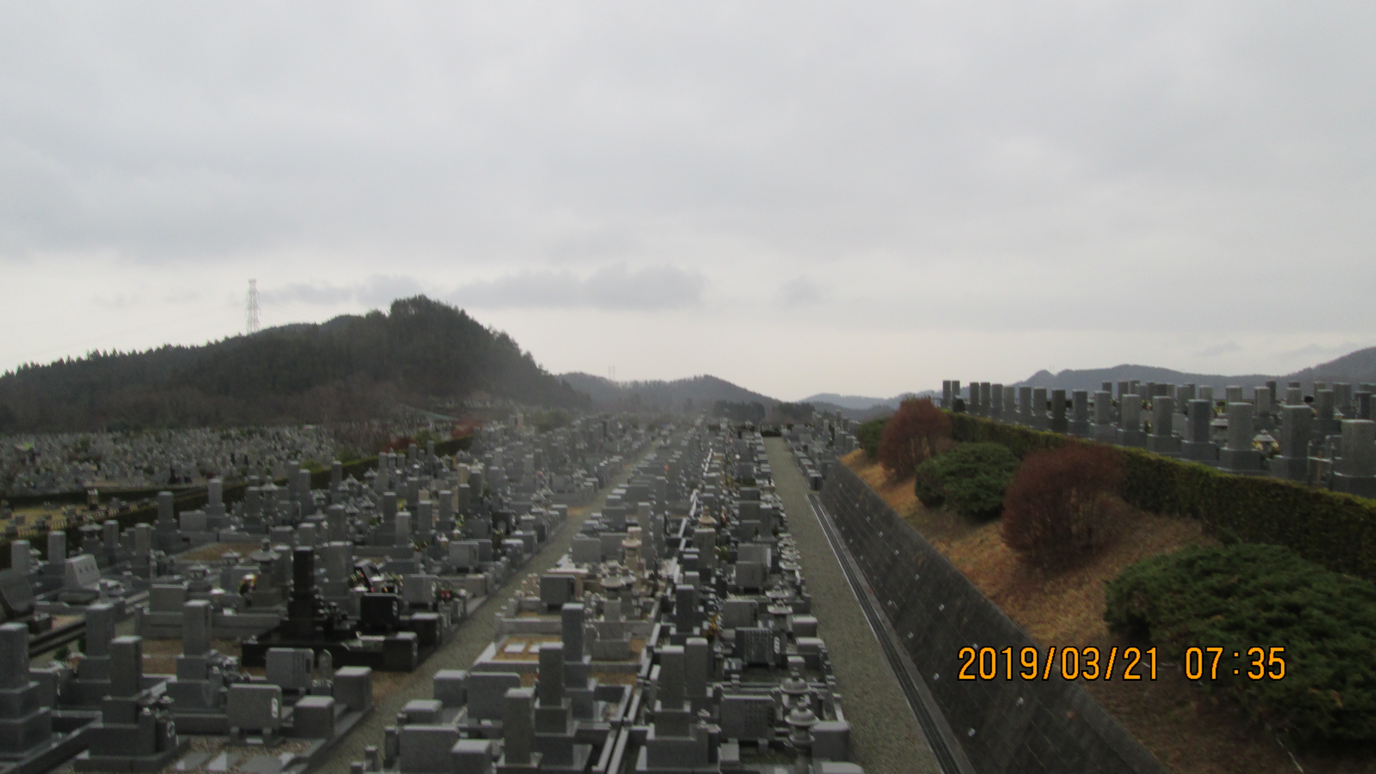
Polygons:
<instances>
[{"instance_id":1,"label":"dark sloping concrete retaining wall below the grassy bank","mask_svg":"<svg viewBox=\"0 0 1376 774\"><path fill-rule=\"evenodd\" d=\"M821 504L976 771L1165 773L1058 669L1047 680L1017 676L1020 650L1036 643L853 471L832 466ZM1046 645L1060 650L1083 643ZM1013 647L1014 679L1004 679L1000 654L996 679L958 680L963 664L958 653L966 646ZM1046 657L1044 646L1040 656ZM1142 667L1138 671L1145 673Z\"/></svg>"}]
</instances>

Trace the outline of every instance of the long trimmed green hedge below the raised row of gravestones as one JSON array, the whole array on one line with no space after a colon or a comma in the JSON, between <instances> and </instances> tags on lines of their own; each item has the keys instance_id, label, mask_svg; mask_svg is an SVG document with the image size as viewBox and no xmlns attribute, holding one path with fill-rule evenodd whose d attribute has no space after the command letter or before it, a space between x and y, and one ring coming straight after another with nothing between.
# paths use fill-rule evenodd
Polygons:
<instances>
[{"instance_id":1,"label":"long trimmed green hedge below the raised row of gravestones","mask_svg":"<svg viewBox=\"0 0 1376 774\"><path fill-rule=\"evenodd\" d=\"M970 415L951 413L951 437L995 442L1014 454L1090 443ZM1132 507L1204 523L1214 534L1285 545L1336 573L1376 580L1376 500L1112 446L1123 459L1119 496Z\"/></svg>"}]
</instances>

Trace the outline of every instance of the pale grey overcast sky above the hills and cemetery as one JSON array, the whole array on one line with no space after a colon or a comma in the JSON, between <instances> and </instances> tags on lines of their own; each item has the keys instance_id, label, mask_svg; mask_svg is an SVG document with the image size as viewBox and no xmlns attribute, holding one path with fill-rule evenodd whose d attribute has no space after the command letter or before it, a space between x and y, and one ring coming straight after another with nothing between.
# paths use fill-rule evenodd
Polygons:
<instances>
[{"instance_id":1,"label":"pale grey overcast sky above the hills and cemetery","mask_svg":"<svg viewBox=\"0 0 1376 774\"><path fill-rule=\"evenodd\" d=\"M1376 344L1370 3L0 3L0 369L428 293L797 399Z\"/></svg>"}]
</instances>

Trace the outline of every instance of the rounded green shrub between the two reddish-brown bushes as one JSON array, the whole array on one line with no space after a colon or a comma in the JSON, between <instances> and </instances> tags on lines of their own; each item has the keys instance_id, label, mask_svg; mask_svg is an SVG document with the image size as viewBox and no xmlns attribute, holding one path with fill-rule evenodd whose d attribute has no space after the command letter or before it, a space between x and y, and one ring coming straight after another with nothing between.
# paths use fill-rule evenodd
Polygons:
<instances>
[{"instance_id":1,"label":"rounded green shrub between the two reddish-brown bushes","mask_svg":"<svg viewBox=\"0 0 1376 774\"><path fill-rule=\"evenodd\" d=\"M991 519L1003 508L1003 489L1018 459L999 443L965 443L916 468L914 490L923 505L951 505L973 519Z\"/></svg>"}]
</instances>

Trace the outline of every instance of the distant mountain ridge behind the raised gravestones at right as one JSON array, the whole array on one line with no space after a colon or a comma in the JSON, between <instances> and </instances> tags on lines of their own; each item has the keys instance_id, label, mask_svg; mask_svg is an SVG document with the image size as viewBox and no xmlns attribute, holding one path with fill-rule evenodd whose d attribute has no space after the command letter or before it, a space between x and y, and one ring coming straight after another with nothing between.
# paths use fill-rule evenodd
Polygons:
<instances>
[{"instance_id":1,"label":"distant mountain ridge behind the raised gravestones at right","mask_svg":"<svg viewBox=\"0 0 1376 774\"><path fill-rule=\"evenodd\" d=\"M1245 373L1226 376L1221 373L1187 373L1170 368L1123 364L1113 368L1066 369L1058 373L1043 369L1013 386L1093 391L1098 390L1104 381L1117 383L1134 379L1138 381L1156 381L1157 384L1211 384L1215 388L1229 386L1252 388L1266 384L1269 380L1282 383L1299 381L1306 391L1311 391L1315 381L1328 384L1335 381L1354 384L1364 381L1376 383L1376 347L1357 350L1325 364L1282 375Z\"/></svg>"}]
</instances>

